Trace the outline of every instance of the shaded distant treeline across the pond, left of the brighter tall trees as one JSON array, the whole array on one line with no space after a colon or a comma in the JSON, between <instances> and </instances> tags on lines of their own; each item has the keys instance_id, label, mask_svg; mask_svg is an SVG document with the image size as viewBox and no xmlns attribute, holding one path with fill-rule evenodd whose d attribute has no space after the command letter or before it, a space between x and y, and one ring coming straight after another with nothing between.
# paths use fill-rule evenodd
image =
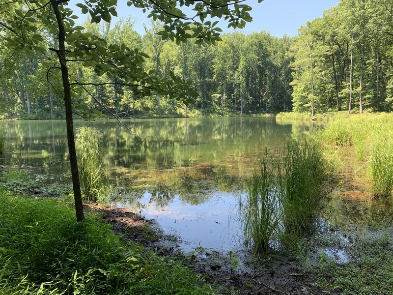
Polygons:
<instances>
[{"instance_id":1,"label":"shaded distant treeline across the pond, left of the brighter tall trees","mask_svg":"<svg viewBox=\"0 0 393 295\"><path fill-rule=\"evenodd\" d=\"M80 87L73 89L75 118L91 116L91 109L105 115L112 113L137 118L244 115L291 110L289 65L292 57L287 54L291 38L276 38L264 31L248 35L234 32L222 35L222 41L215 44L195 44L193 41L176 44L159 34L162 27L158 22L145 26L143 36L134 30L132 18L120 19L114 26L86 21L83 27L107 43L124 44L144 52L149 56L144 62L146 72L154 71L159 78L192 80L199 95L190 99L188 108L182 102L158 93L149 97L136 96L128 86L121 85L120 78L80 67L78 61L69 62L78 82L108 83L86 85L87 91L81 91ZM41 33L45 34L45 31ZM48 44L43 44L45 48L53 43L51 36L47 36L47 40ZM54 53L48 51L47 57L42 54L15 57L6 48L0 49L4 59L13 60L12 65L0 72L6 115L33 119L63 118L61 79L58 79L56 68L48 72L48 68L53 66L48 62L48 56Z\"/></svg>"}]
</instances>

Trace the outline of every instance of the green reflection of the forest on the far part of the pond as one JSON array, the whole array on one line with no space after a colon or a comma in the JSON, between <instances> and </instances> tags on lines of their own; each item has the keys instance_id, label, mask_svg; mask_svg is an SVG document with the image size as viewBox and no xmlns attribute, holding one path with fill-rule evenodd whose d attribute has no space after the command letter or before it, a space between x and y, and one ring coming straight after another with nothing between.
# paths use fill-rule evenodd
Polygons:
<instances>
[{"instance_id":1,"label":"green reflection of the forest on the far part of the pond","mask_svg":"<svg viewBox=\"0 0 393 295\"><path fill-rule=\"evenodd\" d=\"M225 162L239 173L244 171L245 158L260 154L266 145L281 146L294 131L306 134L311 128L311 123L303 123L294 130L291 124L277 124L275 118L148 119L127 123L143 139L115 120L76 120L74 125L77 129L92 124L100 129L107 169L169 169L190 163ZM65 121L12 122L8 141L12 146L8 165L34 166L39 171L44 159L50 157L56 164L48 173L68 171Z\"/></svg>"}]
</instances>

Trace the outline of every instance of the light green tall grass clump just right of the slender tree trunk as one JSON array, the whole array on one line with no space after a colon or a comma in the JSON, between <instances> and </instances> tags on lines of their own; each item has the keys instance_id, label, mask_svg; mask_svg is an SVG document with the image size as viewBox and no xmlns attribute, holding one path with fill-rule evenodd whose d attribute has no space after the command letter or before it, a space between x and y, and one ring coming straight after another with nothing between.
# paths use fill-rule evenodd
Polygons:
<instances>
[{"instance_id":1,"label":"light green tall grass clump just right of the slender tree trunk","mask_svg":"<svg viewBox=\"0 0 393 295\"><path fill-rule=\"evenodd\" d=\"M84 198L88 202L103 201L106 196L106 174L102 164L102 135L97 128L81 127L76 135L79 173Z\"/></svg>"}]
</instances>

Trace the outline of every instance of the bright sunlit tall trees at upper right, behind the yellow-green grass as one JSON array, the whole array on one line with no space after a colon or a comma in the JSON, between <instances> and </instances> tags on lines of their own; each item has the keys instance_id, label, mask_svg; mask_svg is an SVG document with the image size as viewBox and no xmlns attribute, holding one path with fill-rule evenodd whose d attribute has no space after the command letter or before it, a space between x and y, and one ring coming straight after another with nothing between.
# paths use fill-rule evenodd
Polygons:
<instances>
[{"instance_id":1,"label":"bright sunlit tall trees at upper right, behind the yellow-green grass","mask_svg":"<svg viewBox=\"0 0 393 295\"><path fill-rule=\"evenodd\" d=\"M341 0L292 46L297 112L393 107L393 1Z\"/></svg>"}]
</instances>

